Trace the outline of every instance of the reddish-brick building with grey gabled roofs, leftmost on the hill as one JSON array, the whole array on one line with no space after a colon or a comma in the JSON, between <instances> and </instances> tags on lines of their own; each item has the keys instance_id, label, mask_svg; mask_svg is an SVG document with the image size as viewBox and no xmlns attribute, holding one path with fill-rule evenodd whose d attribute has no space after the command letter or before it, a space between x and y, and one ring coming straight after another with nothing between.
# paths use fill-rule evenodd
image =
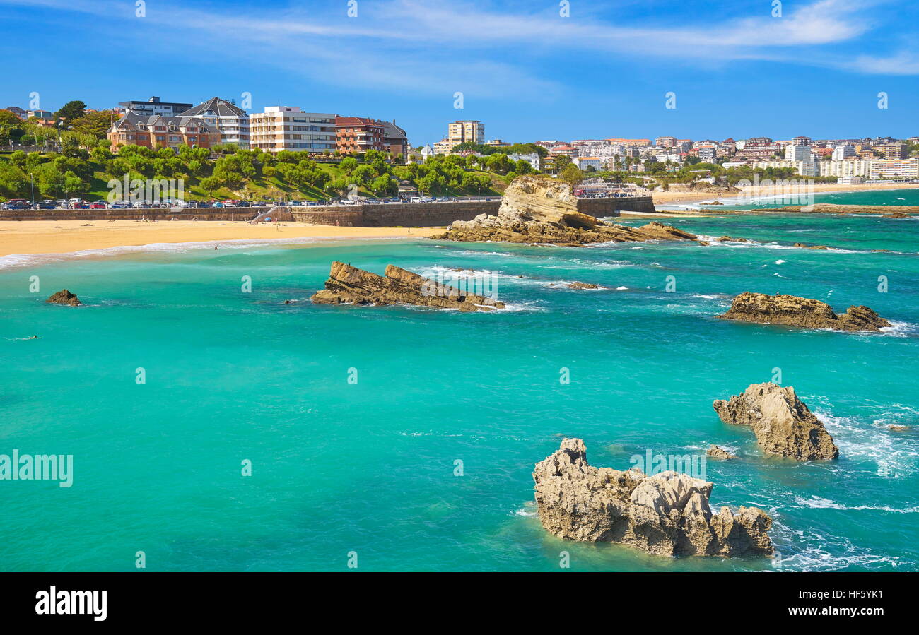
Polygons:
<instances>
[{"instance_id":1,"label":"reddish-brick building with grey gabled roofs, leftmost on the hill","mask_svg":"<svg viewBox=\"0 0 919 635\"><path fill-rule=\"evenodd\" d=\"M221 142L221 133L200 117L145 116L129 111L108 128L108 140L111 141L113 152L118 152L121 146L126 145L154 150L176 150L181 145L212 148Z\"/></svg>"}]
</instances>

